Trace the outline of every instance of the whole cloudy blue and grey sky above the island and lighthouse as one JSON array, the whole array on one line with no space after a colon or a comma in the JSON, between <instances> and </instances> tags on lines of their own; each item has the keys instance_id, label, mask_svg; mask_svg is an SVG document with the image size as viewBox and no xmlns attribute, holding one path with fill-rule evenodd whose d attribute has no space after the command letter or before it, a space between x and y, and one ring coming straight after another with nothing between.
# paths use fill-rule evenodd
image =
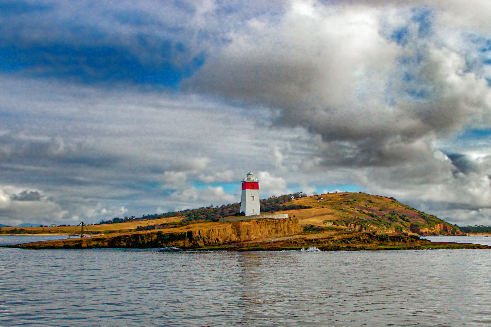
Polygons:
<instances>
[{"instance_id":1,"label":"whole cloudy blue and grey sky above the island and lighthouse","mask_svg":"<svg viewBox=\"0 0 491 327\"><path fill-rule=\"evenodd\" d=\"M0 0L0 224L293 192L491 225L489 0Z\"/></svg>"}]
</instances>

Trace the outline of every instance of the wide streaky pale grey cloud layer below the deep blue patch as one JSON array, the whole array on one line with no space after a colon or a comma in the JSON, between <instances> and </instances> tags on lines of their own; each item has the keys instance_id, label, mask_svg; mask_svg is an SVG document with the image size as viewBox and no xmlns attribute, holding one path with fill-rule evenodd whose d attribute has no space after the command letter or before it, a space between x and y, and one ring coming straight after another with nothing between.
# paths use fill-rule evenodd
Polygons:
<instances>
[{"instance_id":1,"label":"wide streaky pale grey cloud layer below the deep blue patch","mask_svg":"<svg viewBox=\"0 0 491 327\"><path fill-rule=\"evenodd\" d=\"M122 216L121 207L141 216L237 202L247 169L274 169L274 147L295 151L289 142L308 139L258 128L241 110L199 97L5 77L0 84L1 178L15 186L7 200L24 190L49 194L66 214L34 220L45 225L97 223ZM29 217L19 209L2 219Z\"/></svg>"}]
</instances>

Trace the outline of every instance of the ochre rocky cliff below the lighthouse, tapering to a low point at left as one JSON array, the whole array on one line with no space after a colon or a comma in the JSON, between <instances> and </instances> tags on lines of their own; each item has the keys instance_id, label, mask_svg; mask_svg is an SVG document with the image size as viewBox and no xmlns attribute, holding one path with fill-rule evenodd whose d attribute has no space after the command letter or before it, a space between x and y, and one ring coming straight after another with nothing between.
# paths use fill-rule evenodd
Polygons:
<instances>
[{"instance_id":1,"label":"ochre rocky cliff below the lighthouse, tapering to a low point at left","mask_svg":"<svg viewBox=\"0 0 491 327\"><path fill-rule=\"evenodd\" d=\"M204 225L204 227L203 227ZM89 248L158 248L174 246L199 248L233 242L252 241L263 237L281 237L299 233L297 219L253 219L230 223L208 223L187 226L175 231L143 231L22 244L24 249L89 249Z\"/></svg>"}]
</instances>

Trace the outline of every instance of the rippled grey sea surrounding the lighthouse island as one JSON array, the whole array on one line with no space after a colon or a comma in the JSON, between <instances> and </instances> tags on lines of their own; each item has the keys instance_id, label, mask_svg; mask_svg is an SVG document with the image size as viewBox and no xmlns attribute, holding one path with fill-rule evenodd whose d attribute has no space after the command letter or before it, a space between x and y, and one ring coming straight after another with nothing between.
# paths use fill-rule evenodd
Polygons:
<instances>
[{"instance_id":1,"label":"rippled grey sea surrounding the lighthouse island","mask_svg":"<svg viewBox=\"0 0 491 327\"><path fill-rule=\"evenodd\" d=\"M490 300L490 250L0 249L0 326L474 327Z\"/></svg>"}]
</instances>

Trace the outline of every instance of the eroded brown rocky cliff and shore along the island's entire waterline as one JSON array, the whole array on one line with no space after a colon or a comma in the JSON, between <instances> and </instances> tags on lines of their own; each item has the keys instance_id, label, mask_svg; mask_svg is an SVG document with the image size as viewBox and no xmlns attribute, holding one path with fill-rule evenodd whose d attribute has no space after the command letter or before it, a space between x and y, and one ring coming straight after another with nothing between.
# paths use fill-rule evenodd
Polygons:
<instances>
[{"instance_id":1,"label":"eroded brown rocky cliff and shore along the island's entire waterline","mask_svg":"<svg viewBox=\"0 0 491 327\"><path fill-rule=\"evenodd\" d=\"M431 243L396 232L320 230L302 231L297 218L252 219L197 223L183 227L117 233L87 238L26 243L21 249L162 248L183 250L278 251L316 246L323 251L491 249L458 243Z\"/></svg>"}]
</instances>

